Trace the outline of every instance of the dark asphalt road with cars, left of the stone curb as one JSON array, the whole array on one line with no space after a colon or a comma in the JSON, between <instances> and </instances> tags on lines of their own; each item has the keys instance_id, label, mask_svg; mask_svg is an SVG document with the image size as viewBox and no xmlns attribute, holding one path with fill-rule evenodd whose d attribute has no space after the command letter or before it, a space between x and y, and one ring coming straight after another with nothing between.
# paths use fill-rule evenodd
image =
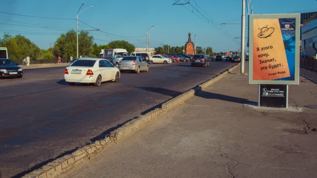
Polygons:
<instances>
[{"instance_id":1,"label":"dark asphalt road with cars, left of the stone curb","mask_svg":"<svg viewBox=\"0 0 317 178\"><path fill-rule=\"evenodd\" d=\"M24 70L0 80L0 177L22 176L220 74L234 64L150 65L120 82L69 86L64 69Z\"/></svg>"}]
</instances>

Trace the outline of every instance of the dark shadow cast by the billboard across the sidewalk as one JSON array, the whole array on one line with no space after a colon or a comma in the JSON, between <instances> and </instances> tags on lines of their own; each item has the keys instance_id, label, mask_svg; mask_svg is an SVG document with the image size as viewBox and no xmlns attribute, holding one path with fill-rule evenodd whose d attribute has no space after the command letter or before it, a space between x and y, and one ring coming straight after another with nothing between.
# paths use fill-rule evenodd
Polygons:
<instances>
[{"instance_id":1,"label":"dark shadow cast by the billboard across the sidewalk","mask_svg":"<svg viewBox=\"0 0 317 178\"><path fill-rule=\"evenodd\" d=\"M206 98L206 99L222 100L222 101L226 101L226 102L239 103L239 104L256 103L256 102L249 101L246 98L228 96L228 95L223 95L223 94L218 94L218 93L211 93L211 92L207 92L207 91L199 91L199 92L195 93L195 96L199 96L199 97Z\"/></svg>"}]
</instances>

